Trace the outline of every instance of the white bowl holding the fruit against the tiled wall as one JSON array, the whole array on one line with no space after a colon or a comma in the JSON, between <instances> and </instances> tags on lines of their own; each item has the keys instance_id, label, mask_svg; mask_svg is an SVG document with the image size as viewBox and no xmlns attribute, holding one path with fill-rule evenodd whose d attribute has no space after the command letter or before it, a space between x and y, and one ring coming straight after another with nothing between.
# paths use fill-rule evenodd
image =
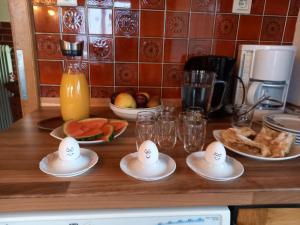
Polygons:
<instances>
[{"instance_id":1,"label":"white bowl holding the fruit against the tiled wall","mask_svg":"<svg viewBox=\"0 0 300 225\"><path fill-rule=\"evenodd\" d=\"M112 103L109 104L109 107L114 112L114 114L116 114L118 117L129 121L135 121L137 114L141 111L150 111L157 114L161 111L162 108L161 105L158 105L156 107L151 107L151 108L122 108Z\"/></svg>"}]
</instances>

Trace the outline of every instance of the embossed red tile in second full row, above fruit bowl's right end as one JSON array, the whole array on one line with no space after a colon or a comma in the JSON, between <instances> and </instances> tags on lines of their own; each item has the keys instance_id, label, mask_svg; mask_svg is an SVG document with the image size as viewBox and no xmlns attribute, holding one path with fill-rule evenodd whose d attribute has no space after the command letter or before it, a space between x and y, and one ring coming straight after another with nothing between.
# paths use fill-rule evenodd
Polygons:
<instances>
[{"instance_id":1,"label":"embossed red tile in second full row, above fruit bowl's right end","mask_svg":"<svg viewBox=\"0 0 300 225\"><path fill-rule=\"evenodd\" d=\"M141 38L140 39L140 61L161 62L162 61L162 38Z\"/></svg>"}]
</instances>

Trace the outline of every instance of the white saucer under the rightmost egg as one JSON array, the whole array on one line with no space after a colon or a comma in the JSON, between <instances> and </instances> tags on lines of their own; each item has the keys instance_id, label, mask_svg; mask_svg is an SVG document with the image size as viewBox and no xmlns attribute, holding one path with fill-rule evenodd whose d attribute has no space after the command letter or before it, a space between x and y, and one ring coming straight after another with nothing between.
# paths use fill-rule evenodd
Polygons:
<instances>
[{"instance_id":1,"label":"white saucer under the rightmost egg","mask_svg":"<svg viewBox=\"0 0 300 225\"><path fill-rule=\"evenodd\" d=\"M205 179L213 181L229 181L242 176L244 173L244 166L238 160L226 156L226 163L232 167L232 173L224 177L216 176L209 171L208 166L205 166L206 163L201 163L204 162L204 155L205 152L193 152L186 158L186 164L191 170Z\"/></svg>"}]
</instances>

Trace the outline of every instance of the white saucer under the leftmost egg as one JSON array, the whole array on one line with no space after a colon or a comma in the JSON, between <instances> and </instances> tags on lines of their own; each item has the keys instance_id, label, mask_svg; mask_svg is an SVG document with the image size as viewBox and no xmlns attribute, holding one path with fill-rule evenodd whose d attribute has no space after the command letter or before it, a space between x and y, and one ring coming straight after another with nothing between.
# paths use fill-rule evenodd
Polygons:
<instances>
[{"instance_id":1,"label":"white saucer under the leftmost egg","mask_svg":"<svg viewBox=\"0 0 300 225\"><path fill-rule=\"evenodd\" d=\"M80 149L80 157L73 161L62 161L58 152L45 156L39 164L40 170L56 177L74 177L85 173L98 162L98 155L85 148Z\"/></svg>"}]
</instances>

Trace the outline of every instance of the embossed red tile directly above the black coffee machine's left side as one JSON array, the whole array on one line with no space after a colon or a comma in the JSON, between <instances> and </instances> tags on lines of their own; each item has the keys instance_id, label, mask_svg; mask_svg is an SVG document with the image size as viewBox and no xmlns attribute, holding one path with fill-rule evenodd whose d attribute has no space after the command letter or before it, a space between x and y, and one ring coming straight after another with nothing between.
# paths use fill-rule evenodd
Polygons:
<instances>
[{"instance_id":1,"label":"embossed red tile directly above the black coffee machine's left side","mask_svg":"<svg viewBox=\"0 0 300 225\"><path fill-rule=\"evenodd\" d=\"M189 57L209 55L211 50L211 40L191 39L189 41Z\"/></svg>"}]
</instances>

